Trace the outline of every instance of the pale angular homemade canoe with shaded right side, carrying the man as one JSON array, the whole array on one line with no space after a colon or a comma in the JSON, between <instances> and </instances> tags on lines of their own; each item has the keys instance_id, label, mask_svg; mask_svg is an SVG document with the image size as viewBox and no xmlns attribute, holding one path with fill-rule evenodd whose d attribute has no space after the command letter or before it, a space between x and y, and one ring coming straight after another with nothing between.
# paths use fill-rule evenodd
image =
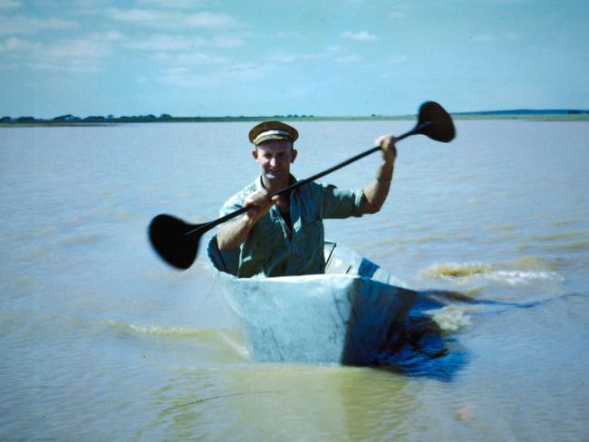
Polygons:
<instances>
[{"instance_id":1,"label":"pale angular homemade canoe with shaded right side, carrying the man","mask_svg":"<svg viewBox=\"0 0 589 442\"><path fill-rule=\"evenodd\" d=\"M208 259L253 360L372 365L418 296L352 250L325 244L325 274L237 278L238 253Z\"/></svg>"}]
</instances>

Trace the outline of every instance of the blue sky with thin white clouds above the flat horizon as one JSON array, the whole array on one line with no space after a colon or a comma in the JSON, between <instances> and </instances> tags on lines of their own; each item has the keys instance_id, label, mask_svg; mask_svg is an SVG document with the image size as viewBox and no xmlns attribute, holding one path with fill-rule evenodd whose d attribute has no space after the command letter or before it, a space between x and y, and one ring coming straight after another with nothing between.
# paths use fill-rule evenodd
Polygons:
<instances>
[{"instance_id":1,"label":"blue sky with thin white clouds above the flat horizon","mask_svg":"<svg viewBox=\"0 0 589 442\"><path fill-rule=\"evenodd\" d=\"M589 108L587 0L0 0L0 116Z\"/></svg>"}]
</instances>

